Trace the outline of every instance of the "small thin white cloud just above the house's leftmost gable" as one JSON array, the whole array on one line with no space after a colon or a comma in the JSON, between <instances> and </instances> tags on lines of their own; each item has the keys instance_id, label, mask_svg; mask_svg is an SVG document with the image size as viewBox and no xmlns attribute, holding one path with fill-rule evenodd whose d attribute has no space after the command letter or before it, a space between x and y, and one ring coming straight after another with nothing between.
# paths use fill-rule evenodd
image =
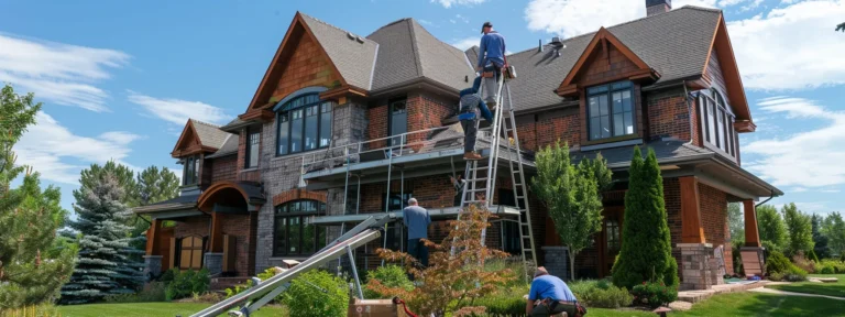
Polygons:
<instances>
[{"instance_id":1,"label":"small thin white cloud just above the house's leftmost gable","mask_svg":"<svg viewBox=\"0 0 845 317\"><path fill-rule=\"evenodd\" d=\"M226 123L224 120L231 119L223 113L223 109L200 101L158 99L129 90L129 102L144 107L149 114L178 125L184 125L189 118L209 123Z\"/></svg>"}]
</instances>

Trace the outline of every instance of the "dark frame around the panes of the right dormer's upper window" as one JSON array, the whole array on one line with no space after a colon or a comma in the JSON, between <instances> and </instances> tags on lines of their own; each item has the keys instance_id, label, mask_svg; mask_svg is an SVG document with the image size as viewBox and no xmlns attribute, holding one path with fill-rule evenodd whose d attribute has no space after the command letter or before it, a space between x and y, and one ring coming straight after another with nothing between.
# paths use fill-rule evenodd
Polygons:
<instances>
[{"instance_id":1,"label":"dark frame around the panes of the right dormer's upper window","mask_svg":"<svg viewBox=\"0 0 845 317\"><path fill-rule=\"evenodd\" d=\"M614 88L615 86L618 86ZM602 141L612 141L612 140L618 140L618 139L625 139L630 138L632 135L637 135L637 98L634 89L634 83L630 80L621 80L621 81L614 81L614 83L607 83L603 85L595 85L588 87L584 89L584 123L586 127L586 141L588 142L602 142ZM623 111L621 112L623 116L623 122L625 120L625 113L630 112L630 120L632 120L632 131L630 133L624 133L619 135L614 135L615 130L615 120L614 120L614 112L613 112L613 94L615 92L624 92L628 91L630 94L630 111L625 111L623 108ZM595 138L593 139L593 135L591 133L592 128L592 117L590 111L590 98L596 97L596 96L605 96L606 100L606 110L607 110L607 125L610 129L610 136L605 138ZM601 107L601 103L600 106ZM601 110L599 109L599 118L604 117L601 114ZM599 119L601 120L601 119ZM624 124L624 123L623 123ZM600 128L601 129L601 128ZM625 129L625 127L623 127Z\"/></svg>"}]
</instances>

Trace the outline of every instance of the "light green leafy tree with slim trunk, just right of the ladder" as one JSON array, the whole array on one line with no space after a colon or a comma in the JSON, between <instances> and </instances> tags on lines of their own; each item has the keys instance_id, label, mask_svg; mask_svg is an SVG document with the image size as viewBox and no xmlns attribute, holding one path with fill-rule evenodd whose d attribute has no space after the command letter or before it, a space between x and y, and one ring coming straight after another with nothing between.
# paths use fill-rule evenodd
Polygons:
<instances>
[{"instance_id":1,"label":"light green leafy tree with slim trunk, just right of the ladder","mask_svg":"<svg viewBox=\"0 0 845 317\"><path fill-rule=\"evenodd\" d=\"M611 186L611 171L601 156L572 165L569 146L556 142L537 153L534 193L546 205L562 244L569 247L570 274L575 276L575 256L590 247L602 230L600 189Z\"/></svg>"}]
</instances>

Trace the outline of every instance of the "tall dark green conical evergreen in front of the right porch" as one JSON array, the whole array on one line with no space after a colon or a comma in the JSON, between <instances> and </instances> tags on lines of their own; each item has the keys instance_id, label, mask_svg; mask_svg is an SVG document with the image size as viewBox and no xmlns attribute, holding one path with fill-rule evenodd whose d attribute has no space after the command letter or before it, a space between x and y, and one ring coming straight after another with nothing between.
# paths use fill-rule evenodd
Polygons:
<instances>
[{"instance_id":1,"label":"tall dark green conical evergreen in front of the right porch","mask_svg":"<svg viewBox=\"0 0 845 317\"><path fill-rule=\"evenodd\" d=\"M622 250L613 265L613 284L632 289L645 281L678 286L678 263L672 258L671 237L663 200L663 179L655 151L643 161L634 150L625 194Z\"/></svg>"}]
</instances>

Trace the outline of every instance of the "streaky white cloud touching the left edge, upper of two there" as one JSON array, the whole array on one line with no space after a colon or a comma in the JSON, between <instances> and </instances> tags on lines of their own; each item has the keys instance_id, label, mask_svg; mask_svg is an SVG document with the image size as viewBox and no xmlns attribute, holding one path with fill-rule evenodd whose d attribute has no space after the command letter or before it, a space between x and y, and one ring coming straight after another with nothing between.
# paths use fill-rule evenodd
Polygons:
<instances>
[{"instance_id":1,"label":"streaky white cloud touching the left edge, upper of two there","mask_svg":"<svg viewBox=\"0 0 845 317\"><path fill-rule=\"evenodd\" d=\"M128 54L105 48L53 43L0 33L0 81L11 83L39 99L87 110L108 111L109 95L95 86L109 79Z\"/></svg>"}]
</instances>

